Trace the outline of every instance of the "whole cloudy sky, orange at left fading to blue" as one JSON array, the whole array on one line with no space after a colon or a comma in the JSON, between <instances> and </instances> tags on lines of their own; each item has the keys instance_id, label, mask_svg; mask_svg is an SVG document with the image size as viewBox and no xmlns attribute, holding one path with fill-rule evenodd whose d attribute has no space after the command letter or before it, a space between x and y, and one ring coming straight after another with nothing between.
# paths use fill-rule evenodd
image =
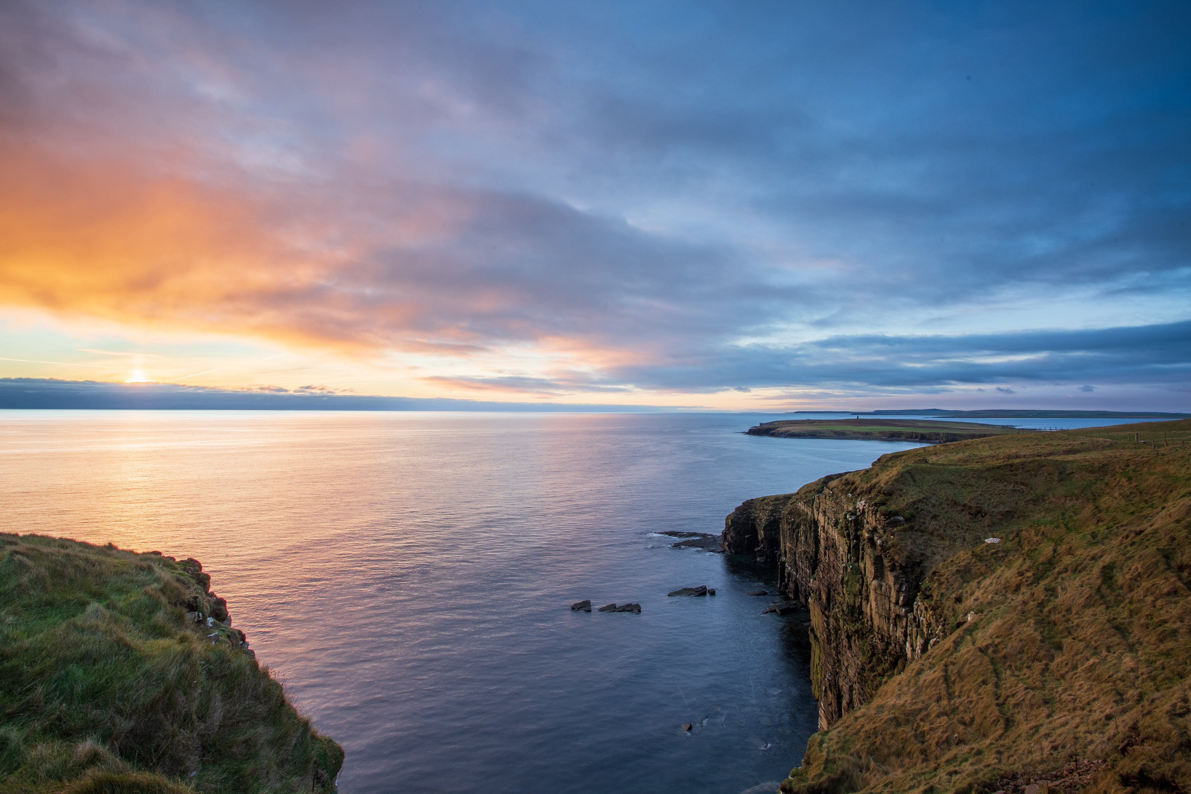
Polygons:
<instances>
[{"instance_id":1,"label":"whole cloudy sky, orange at left fading to blue","mask_svg":"<svg viewBox=\"0 0 1191 794\"><path fill-rule=\"evenodd\" d=\"M1191 406L1191 5L0 5L0 377Z\"/></svg>"}]
</instances>

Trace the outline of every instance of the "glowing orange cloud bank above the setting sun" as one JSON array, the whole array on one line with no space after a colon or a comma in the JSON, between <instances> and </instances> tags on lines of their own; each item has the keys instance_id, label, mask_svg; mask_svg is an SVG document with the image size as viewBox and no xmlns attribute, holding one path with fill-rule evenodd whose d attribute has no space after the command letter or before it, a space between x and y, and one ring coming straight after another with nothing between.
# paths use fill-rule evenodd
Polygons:
<instances>
[{"instance_id":1,"label":"glowing orange cloud bank above the setting sun","mask_svg":"<svg viewBox=\"0 0 1191 794\"><path fill-rule=\"evenodd\" d=\"M375 240L351 230L350 243L333 242L342 230L333 219L311 224L320 217L312 201L181 175L197 163L172 165L150 173L5 142L0 302L356 352L484 350L474 336L424 327L416 301L369 301L347 271ZM391 244L441 237L443 214L411 213L385 231Z\"/></svg>"}]
</instances>

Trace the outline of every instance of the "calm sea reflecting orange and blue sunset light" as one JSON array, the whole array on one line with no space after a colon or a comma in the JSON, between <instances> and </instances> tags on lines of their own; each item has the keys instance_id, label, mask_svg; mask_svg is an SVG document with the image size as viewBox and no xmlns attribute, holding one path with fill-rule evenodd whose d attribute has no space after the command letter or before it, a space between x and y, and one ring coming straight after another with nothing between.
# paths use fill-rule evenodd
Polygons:
<instances>
[{"instance_id":1,"label":"calm sea reflecting orange and blue sunset light","mask_svg":"<svg viewBox=\"0 0 1191 794\"><path fill-rule=\"evenodd\" d=\"M0 521L202 561L345 794L735 794L815 730L805 627L655 533L911 446L742 434L774 418L8 411Z\"/></svg>"}]
</instances>

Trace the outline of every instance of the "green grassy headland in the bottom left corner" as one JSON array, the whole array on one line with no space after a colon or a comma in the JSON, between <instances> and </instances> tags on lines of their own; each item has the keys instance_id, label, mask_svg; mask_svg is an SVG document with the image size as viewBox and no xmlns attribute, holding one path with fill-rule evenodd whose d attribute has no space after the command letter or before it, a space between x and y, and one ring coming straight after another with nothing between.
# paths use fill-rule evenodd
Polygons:
<instances>
[{"instance_id":1,"label":"green grassy headland in the bottom left corner","mask_svg":"<svg viewBox=\"0 0 1191 794\"><path fill-rule=\"evenodd\" d=\"M208 582L195 561L0 533L0 790L332 792L343 750Z\"/></svg>"}]
</instances>

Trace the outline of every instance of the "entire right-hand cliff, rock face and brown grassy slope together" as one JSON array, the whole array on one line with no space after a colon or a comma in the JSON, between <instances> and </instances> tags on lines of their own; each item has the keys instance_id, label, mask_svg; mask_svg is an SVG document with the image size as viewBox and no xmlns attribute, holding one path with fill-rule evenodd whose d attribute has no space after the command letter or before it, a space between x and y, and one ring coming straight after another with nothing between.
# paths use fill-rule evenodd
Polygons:
<instances>
[{"instance_id":1,"label":"entire right-hand cliff, rock face and brown grassy slope together","mask_svg":"<svg viewBox=\"0 0 1191 794\"><path fill-rule=\"evenodd\" d=\"M736 508L725 550L811 613L819 732L782 790L1191 792L1189 440L956 442Z\"/></svg>"}]
</instances>

